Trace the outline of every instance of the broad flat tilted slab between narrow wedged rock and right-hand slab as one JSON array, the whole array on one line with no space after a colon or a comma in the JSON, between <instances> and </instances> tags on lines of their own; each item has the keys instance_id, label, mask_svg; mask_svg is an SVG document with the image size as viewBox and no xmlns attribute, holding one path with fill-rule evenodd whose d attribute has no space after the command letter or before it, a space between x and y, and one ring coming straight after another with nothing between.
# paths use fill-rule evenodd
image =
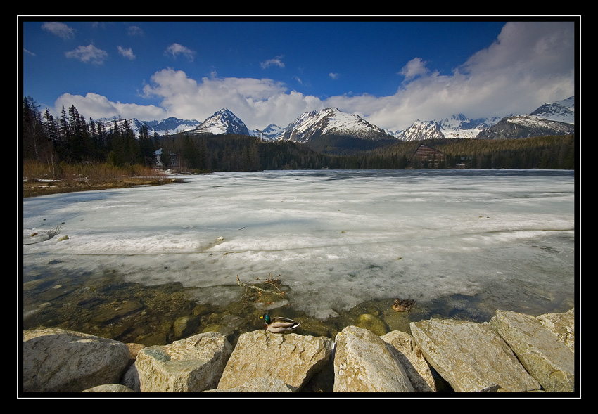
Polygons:
<instances>
[{"instance_id":1,"label":"broad flat tilted slab between narrow wedged rock and right-hand slab","mask_svg":"<svg viewBox=\"0 0 598 414\"><path fill-rule=\"evenodd\" d=\"M488 323L430 319L410 327L426 361L456 392L540 389Z\"/></svg>"}]
</instances>

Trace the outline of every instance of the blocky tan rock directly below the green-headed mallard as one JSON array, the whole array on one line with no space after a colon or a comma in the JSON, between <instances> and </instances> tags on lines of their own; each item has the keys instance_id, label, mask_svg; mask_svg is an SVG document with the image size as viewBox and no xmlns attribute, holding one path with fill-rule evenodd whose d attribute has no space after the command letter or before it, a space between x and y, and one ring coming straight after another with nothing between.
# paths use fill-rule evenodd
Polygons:
<instances>
[{"instance_id":1,"label":"blocky tan rock directly below the green-headed mallard","mask_svg":"<svg viewBox=\"0 0 598 414\"><path fill-rule=\"evenodd\" d=\"M332 341L310 335L276 334L267 330L246 332L222 373L218 389L241 387L257 377L282 380L298 391L329 360Z\"/></svg>"}]
</instances>

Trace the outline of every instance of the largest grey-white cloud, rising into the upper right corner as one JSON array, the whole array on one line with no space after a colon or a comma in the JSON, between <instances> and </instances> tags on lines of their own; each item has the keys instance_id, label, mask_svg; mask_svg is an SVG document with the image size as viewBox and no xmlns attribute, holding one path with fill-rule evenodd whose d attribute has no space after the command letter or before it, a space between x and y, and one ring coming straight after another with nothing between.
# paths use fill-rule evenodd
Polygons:
<instances>
[{"instance_id":1,"label":"largest grey-white cloud, rising into the upper right corner","mask_svg":"<svg viewBox=\"0 0 598 414\"><path fill-rule=\"evenodd\" d=\"M378 109L364 107L364 112L369 122L391 129L458 113L477 118L532 112L573 95L573 34L573 22L509 22L495 43L452 75L441 76L421 59L411 60L401 71L411 82L371 103Z\"/></svg>"}]
</instances>

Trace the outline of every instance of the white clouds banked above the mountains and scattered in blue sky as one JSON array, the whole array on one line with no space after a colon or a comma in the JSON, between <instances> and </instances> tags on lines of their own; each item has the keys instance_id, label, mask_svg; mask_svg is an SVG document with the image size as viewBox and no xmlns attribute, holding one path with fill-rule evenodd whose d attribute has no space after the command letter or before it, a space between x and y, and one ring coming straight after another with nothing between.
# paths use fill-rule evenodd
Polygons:
<instances>
[{"instance_id":1,"label":"white clouds banked above the mountains and scattered in blue sky","mask_svg":"<svg viewBox=\"0 0 598 414\"><path fill-rule=\"evenodd\" d=\"M195 54L178 44L172 44L166 53L189 60ZM103 58L89 46L73 51L72 57ZM280 58L262 65L283 67ZM509 22L492 45L473 54L450 75L429 70L418 56L397 67L397 74L402 82L397 81L397 91L390 96L320 99L289 90L273 79L192 79L181 70L167 68L155 72L142 89L142 96L158 99L159 106L115 103L87 93L63 94L55 110L75 105L80 113L94 119L118 114L141 120L178 117L203 121L217 110L229 108L250 129L270 123L286 127L303 112L328 106L357 113L393 131L409 127L416 119L443 119L459 113L471 118L504 117L529 113L543 103L573 95L575 27L573 22Z\"/></svg>"}]
</instances>

